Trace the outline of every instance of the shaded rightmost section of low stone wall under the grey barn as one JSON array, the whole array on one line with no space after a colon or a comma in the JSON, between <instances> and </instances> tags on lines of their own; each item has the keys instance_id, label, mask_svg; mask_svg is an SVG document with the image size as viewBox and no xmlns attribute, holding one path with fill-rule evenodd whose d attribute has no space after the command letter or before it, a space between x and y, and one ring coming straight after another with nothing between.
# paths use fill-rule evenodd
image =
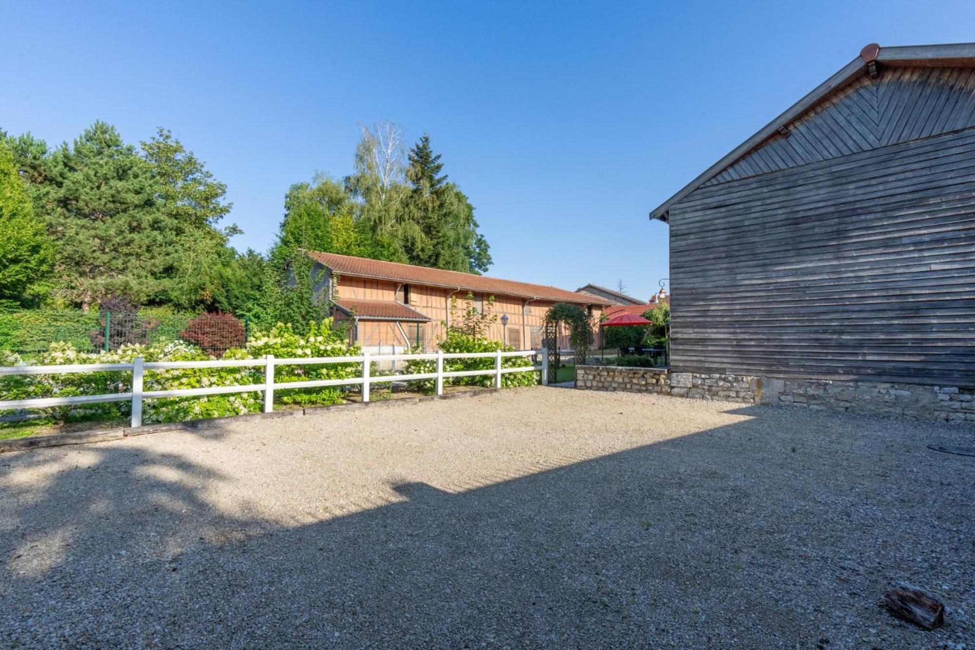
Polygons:
<instances>
[{"instance_id":1,"label":"shaded rightmost section of low stone wall under the grey barn","mask_svg":"<svg viewBox=\"0 0 975 650\"><path fill-rule=\"evenodd\" d=\"M764 379L762 403L975 422L975 388L878 382Z\"/></svg>"}]
</instances>

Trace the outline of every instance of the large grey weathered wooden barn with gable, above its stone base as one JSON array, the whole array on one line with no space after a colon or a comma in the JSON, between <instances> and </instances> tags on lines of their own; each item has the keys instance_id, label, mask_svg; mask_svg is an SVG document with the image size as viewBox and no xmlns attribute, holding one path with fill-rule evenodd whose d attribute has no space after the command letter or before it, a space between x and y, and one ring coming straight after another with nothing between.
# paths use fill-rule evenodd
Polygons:
<instances>
[{"instance_id":1,"label":"large grey weathered wooden barn with gable, above its stone base","mask_svg":"<svg viewBox=\"0 0 975 650\"><path fill-rule=\"evenodd\" d=\"M867 46L650 217L672 372L975 386L975 44Z\"/></svg>"}]
</instances>

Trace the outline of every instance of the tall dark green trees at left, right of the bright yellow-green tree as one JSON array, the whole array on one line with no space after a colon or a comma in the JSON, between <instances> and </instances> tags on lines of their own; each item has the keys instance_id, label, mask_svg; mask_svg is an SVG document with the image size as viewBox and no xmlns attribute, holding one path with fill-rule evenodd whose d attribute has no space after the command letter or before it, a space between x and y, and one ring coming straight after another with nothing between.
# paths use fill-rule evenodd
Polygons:
<instances>
[{"instance_id":1,"label":"tall dark green trees at left, right of the bright yellow-green tree","mask_svg":"<svg viewBox=\"0 0 975 650\"><path fill-rule=\"evenodd\" d=\"M84 308L108 295L138 304L209 306L218 269L239 232L216 223L226 186L170 132L141 148L96 122L53 151L5 137L34 211L58 249L54 295Z\"/></svg>"}]
</instances>

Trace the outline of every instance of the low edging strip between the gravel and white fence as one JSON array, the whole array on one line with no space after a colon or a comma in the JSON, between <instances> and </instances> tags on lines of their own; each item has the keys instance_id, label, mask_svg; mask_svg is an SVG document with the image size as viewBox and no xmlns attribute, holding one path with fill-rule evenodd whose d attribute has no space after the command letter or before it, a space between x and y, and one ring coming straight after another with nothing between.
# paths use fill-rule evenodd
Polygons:
<instances>
[{"instance_id":1,"label":"low edging strip between the gravel and white fence","mask_svg":"<svg viewBox=\"0 0 975 650\"><path fill-rule=\"evenodd\" d=\"M272 413L249 413L241 416L225 416L208 420L190 420L187 422L166 423L162 425L145 425L144 427L115 427L94 429L91 431L71 431L70 433L52 433L50 435L34 435L26 438L0 440L0 454L15 451L43 449L45 447L60 447L62 445L80 445L89 442L104 442L106 440L122 440L136 435L162 433L165 431L198 431L219 427L229 422L248 422L251 420L276 420L282 418L301 418L315 416L341 409L385 408L394 404L419 404L439 399L456 399L458 397L474 397L491 392L500 392L505 388L475 388L450 392L444 395L423 395L422 397L403 397L400 399L383 399L375 402L346 402L329 406L309 406L307 408L292 409L291 411L274 411Z\"/></svg>"}]
</instances>

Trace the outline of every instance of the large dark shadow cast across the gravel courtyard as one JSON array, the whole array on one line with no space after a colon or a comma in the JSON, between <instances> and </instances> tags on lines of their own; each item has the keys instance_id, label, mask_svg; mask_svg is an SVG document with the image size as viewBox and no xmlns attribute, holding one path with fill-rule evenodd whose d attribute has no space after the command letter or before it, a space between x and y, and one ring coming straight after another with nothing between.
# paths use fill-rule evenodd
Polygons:
<instances>
[{"instance_id":1,"label":"large dark shadow cast across the gravel courtyard","mask_svg":"<svg viewBox=\"0 0 975 650\"><path fill-rule=\"evenodd\" d=\"M908 579L975 611L959 568L970 462L925 457L910 424L853 436L836 417L736 412L752 419L457 494L405 482L401 503L293 528L213 511L201 493L219 475L182 457L0 456L0 645L929 647L972 632L957 612L924 632L876 605ZM32 464L50 465L43 484L17 483Z\"/></svg>"}]
</instances>

